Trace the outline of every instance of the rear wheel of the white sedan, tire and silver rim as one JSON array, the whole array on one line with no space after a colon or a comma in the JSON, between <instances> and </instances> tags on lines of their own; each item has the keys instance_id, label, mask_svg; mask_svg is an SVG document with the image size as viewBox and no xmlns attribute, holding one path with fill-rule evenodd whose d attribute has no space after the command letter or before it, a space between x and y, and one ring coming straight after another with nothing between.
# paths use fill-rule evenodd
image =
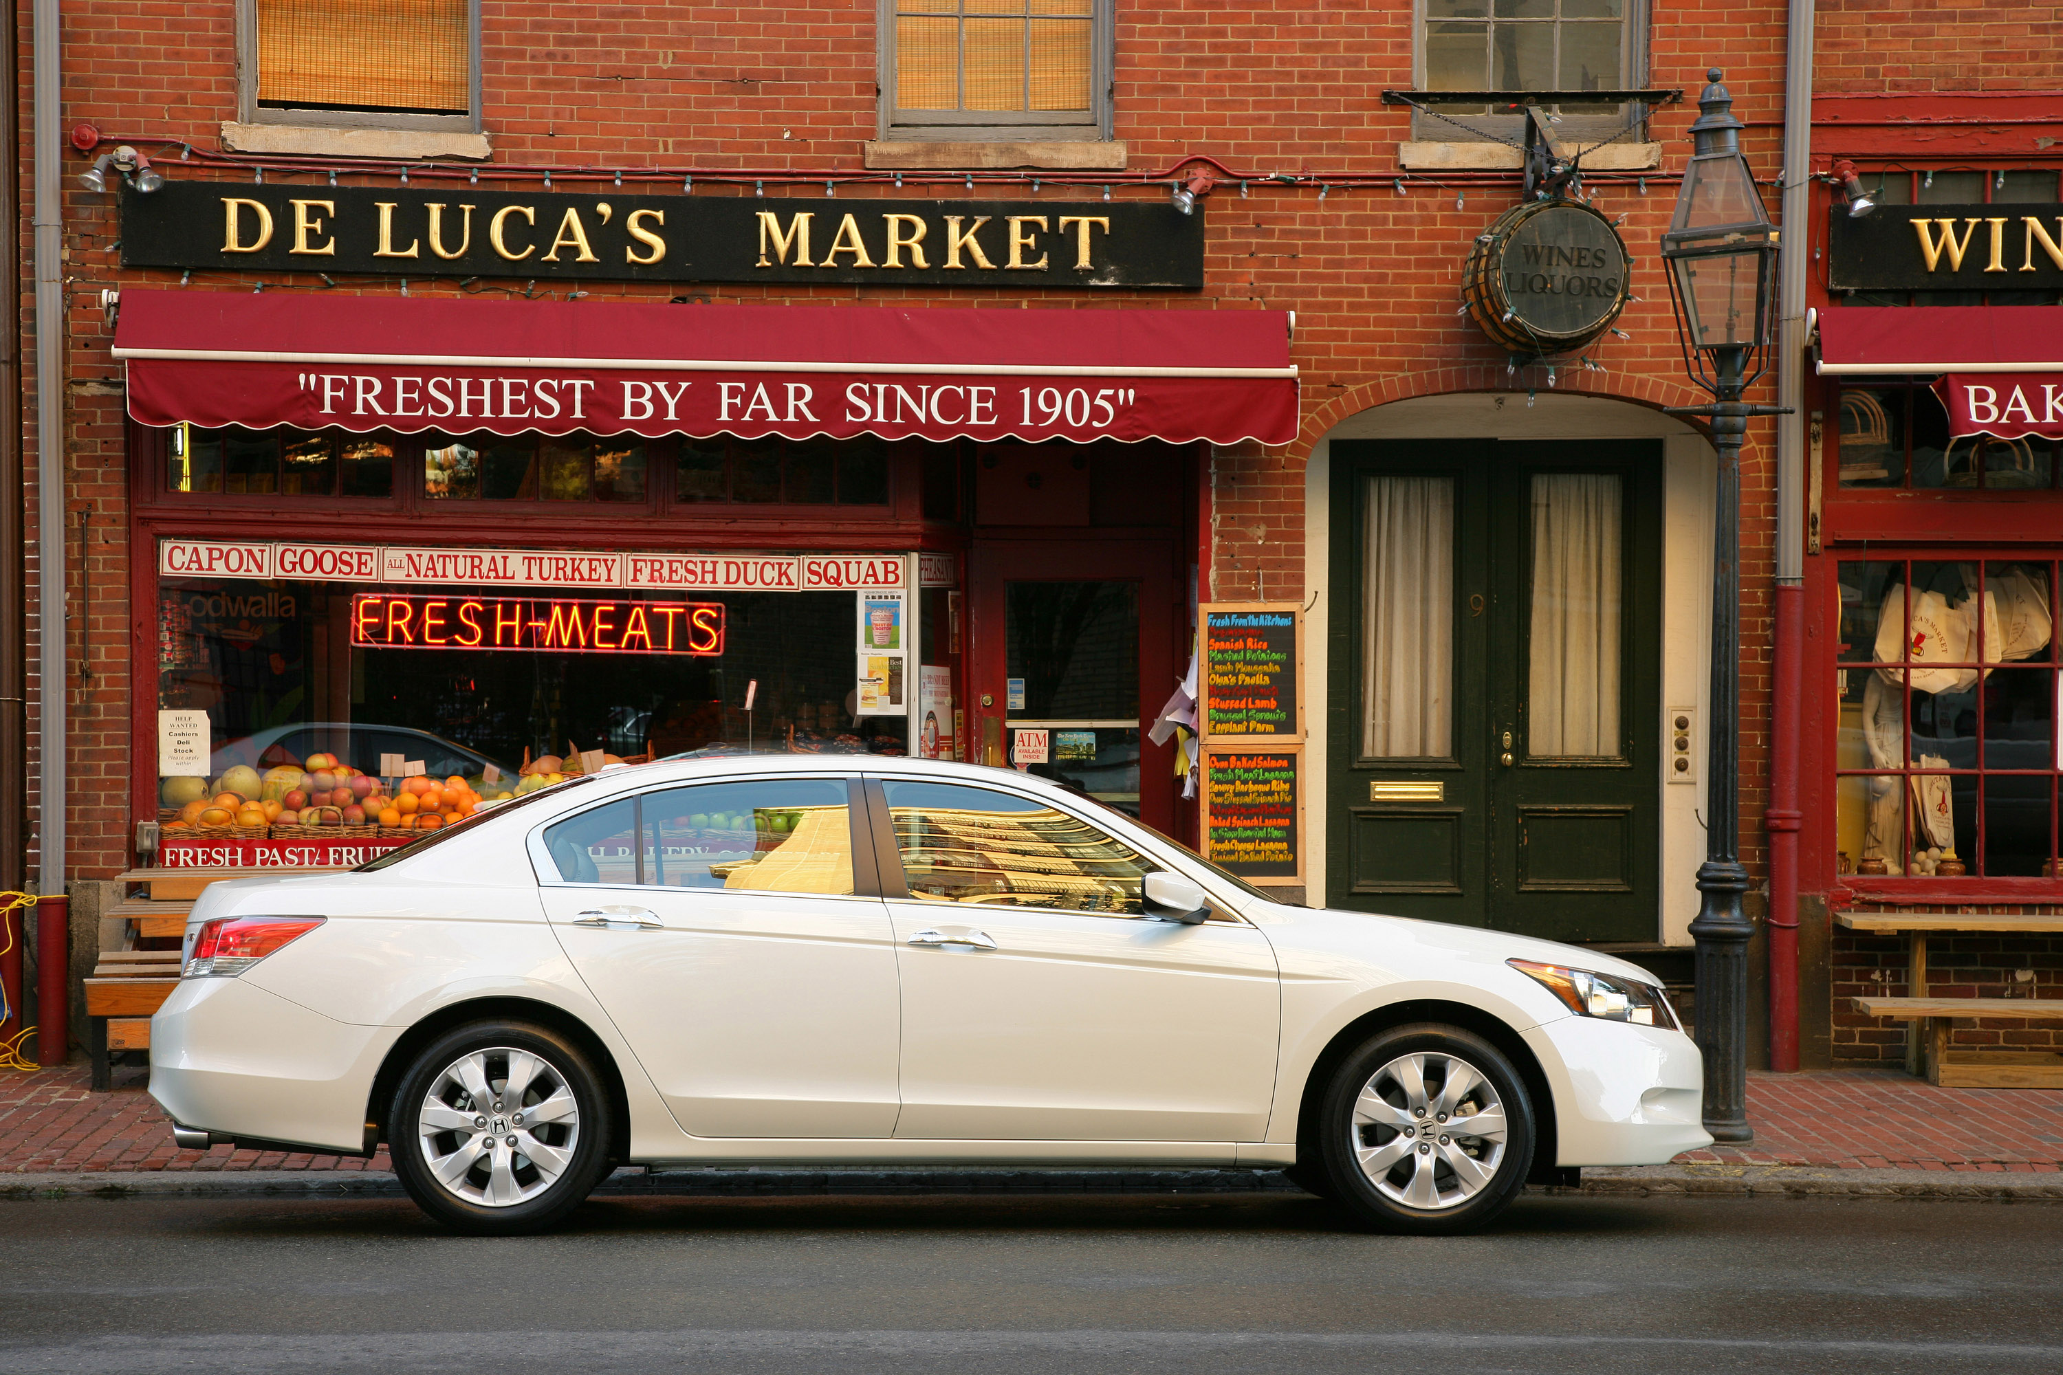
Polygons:
<instances>
[{"instance_id":1,"label":"rear wheel of the white sedan, tire and silver rim","mask_svg":"<svg viewBox=\"0 0 2063 1375\"><path fill-rule=\"evenodd\" d=\"M580 1206L609 1173L613 1132L611 1097L578 1045L536 1022L479 1020L408 1064L388 1111L388 1154L429 1216L516 1237Z\"/></svg>"}]
</instances>

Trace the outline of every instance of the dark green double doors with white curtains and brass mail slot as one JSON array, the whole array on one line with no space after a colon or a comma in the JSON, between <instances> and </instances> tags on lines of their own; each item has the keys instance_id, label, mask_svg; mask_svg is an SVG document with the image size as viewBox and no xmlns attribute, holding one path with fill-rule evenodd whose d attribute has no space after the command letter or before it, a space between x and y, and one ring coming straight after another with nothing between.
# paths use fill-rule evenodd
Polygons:
<instances>
[{"instance_id":1,"label":"dark green double doors with white curtains and brass mail slot","mask_svg":"<svg viewBox=\"0 0 2063 1375\"><path fill-rule=\"evenodd\" d=\"M1655 938L1661 472L1642 441L1333 445L1333 903Z\"/></svg>"}]
</instances>

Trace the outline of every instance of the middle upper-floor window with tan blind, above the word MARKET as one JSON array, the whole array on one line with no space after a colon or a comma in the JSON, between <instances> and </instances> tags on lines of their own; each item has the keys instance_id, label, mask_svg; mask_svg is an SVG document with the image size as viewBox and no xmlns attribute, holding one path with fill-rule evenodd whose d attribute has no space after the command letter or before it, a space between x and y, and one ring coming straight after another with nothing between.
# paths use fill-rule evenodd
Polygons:
<instances>
[{"instance_id":1,"label":"middle upper-floor window with tan blind, above the word MARKET","mask_svg":"<svg viewBox=\"0 0 2063 1375\"><path fill-rule=\"evenodd\" d=\"M881 0L881 134L1110 136L1112 0Z\"/></svg>"}]
</instances>

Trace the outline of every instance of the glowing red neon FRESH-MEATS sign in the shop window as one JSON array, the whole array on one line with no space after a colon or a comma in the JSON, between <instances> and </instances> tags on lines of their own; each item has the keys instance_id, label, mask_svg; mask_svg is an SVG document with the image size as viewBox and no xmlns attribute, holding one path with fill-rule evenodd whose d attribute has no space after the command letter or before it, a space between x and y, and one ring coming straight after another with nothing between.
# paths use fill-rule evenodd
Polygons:
<instances>
[{"instance_id":1,"label":"glowing red neon FRESH-MEATS sign in the shop window","mask_svg":"<svg viewBox=\"0 0 2063 1375\"><path fill-rule=\"evenodd\" d=\"M351 643L363 649L528 649L532 653L724 651L722 602L479 598L361 592Z\"/></svg>"}]
</instances>

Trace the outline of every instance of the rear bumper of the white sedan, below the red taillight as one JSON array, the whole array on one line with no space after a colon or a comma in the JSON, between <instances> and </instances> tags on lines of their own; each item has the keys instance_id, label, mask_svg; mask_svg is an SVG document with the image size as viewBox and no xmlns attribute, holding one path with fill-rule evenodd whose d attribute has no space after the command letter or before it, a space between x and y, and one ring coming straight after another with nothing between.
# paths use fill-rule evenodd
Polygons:
<instances>
[{"instance_id":1,"label":"rear bumper of the white sedan, below the red taillight","mask_svg":"<svg viewBox=\"0 0 2063 1375\"><path fill-rule=\"evenodd\" d=\"M184 979L151 1018L151 1097L186 1136L361 1154L400 1027L355 1027L243 979Z\"/></svg>"}]
</instances>

